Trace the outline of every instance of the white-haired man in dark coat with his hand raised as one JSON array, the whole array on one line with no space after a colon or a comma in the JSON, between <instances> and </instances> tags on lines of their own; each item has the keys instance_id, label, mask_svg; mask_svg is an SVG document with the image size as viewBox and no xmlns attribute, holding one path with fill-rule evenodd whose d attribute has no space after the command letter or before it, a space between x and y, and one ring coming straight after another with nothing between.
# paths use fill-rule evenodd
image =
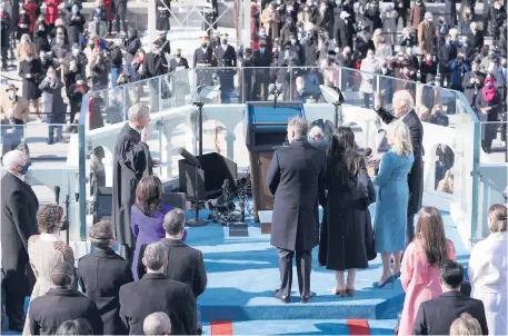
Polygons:
<instances>
[{"instance_id":1,"label":"white-haired man in dark coat with his hand raised","mask_svg":"<svg viewBox=\"0 0 508 336\"><path fill-rule=\"evenodd\" d=\"M424 195L424 127L420 118L415 111L415 101L407 90L395 92L394 115L385 110L379 97L376 97L375 110L385 123L400 119L411 131L412 154L415 161L408 175L409 200L408 200L408 221L406 230L406 245L411 243L415 236L415 214L421 208L421 198Z\"/></svg>"}]
</instances>

